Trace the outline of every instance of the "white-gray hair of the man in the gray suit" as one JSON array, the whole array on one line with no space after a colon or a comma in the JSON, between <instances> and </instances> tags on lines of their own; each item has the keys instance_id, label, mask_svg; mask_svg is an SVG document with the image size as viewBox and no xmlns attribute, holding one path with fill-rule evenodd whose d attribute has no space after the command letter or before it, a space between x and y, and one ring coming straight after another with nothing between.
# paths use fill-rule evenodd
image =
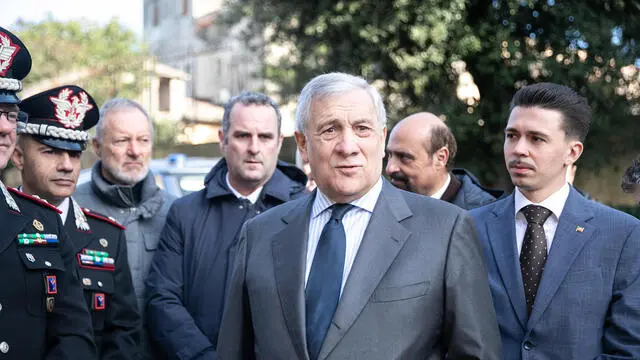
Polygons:
<instances>
[{"instance_id":1,"label":"white-gray hair of the man in the gray suit","mask_svg":"<svg viewBox=\"0 0 640 360\"><path fill-rule=\"evenodd\" d=\"M324 99L353 90L364 90L369 94L375 106L380 126L386 127L387 111L378 90L359 76L334 72L314 77L300 92L296 109L296 130L303 134L306 132L307 123L311 117L311 102L314 99Z\"/></svg>"}]
</instances>

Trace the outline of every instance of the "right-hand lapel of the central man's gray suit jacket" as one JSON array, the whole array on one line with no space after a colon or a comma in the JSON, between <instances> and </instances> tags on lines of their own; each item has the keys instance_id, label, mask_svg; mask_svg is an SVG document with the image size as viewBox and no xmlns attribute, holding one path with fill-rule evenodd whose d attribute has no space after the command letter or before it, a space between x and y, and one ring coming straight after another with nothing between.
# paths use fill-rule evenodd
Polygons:
<instances>
[{"instance_id":1,"label":"right-hand lapel of the central man's gray suit jacket","mask_svg":"<svg viewBox=\"0 0 640 360\"><path fill-rule=\"evenodd\" d=\"M326 358L355 322L411 232L400 221L412 215L388 182L373 210L318 359ZM373 264L373 265L372 265Z\"/></svg>"}]
</instances>

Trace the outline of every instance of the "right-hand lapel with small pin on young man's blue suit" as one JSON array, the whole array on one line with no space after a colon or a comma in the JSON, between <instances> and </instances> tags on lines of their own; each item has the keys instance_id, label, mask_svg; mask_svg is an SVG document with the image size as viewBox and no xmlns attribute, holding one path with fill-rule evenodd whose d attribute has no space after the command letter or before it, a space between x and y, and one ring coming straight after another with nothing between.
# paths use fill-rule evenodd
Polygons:
<instances>
[{"instance_id":1,"label":"right-hand lapel with small pin on young man's blue suit","mask_svg":"<svg viewBox=\"0 0 640 360\"><path fill-rule=\"evenodd\" d=\"M580 250L593 236L595 227L587 223L592 218L590 201L571 188L553 236L540 288L529 318L529 328L540 319Z\"/></svg>"}]
</instances>

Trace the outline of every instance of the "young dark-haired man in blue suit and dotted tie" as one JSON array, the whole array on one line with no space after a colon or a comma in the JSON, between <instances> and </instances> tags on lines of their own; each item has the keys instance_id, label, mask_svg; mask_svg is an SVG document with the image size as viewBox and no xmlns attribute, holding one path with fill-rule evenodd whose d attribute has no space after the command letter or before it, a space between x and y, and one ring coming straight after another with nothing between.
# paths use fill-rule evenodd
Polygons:
<instances>
[{"instance_id":1,"label":"young dark-haired man in blue suit and dotted tie","mask_svg":"<svg viewBox=\"0 0 640 360\"><path fill-rule=\"evenodd\" d=\"M566 86L520 89L504 141L515 190L471 212L505 359L640 358L640 221L565 178L590 117Z\"/></svg>"}]
</instances>

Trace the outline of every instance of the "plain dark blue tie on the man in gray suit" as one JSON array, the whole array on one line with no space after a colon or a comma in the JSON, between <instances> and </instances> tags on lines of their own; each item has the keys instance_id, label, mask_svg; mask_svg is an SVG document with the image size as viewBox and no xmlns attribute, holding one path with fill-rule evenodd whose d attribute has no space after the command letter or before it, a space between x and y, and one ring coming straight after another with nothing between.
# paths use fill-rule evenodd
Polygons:
<instances>
[{"instance_id":1,"label":"plain dark blue tie on the man in gray suit","mask_svg":"<svg viewBox=\"0 0 640 360\"><path fill-rule=\"evenodd\" d=\"M340 300L347 242L342 217L353 205L334 204L331 208L331 218L320 234L307 280L307 350L311 360L318 358Z\"/></svg>"}]
</instances>

